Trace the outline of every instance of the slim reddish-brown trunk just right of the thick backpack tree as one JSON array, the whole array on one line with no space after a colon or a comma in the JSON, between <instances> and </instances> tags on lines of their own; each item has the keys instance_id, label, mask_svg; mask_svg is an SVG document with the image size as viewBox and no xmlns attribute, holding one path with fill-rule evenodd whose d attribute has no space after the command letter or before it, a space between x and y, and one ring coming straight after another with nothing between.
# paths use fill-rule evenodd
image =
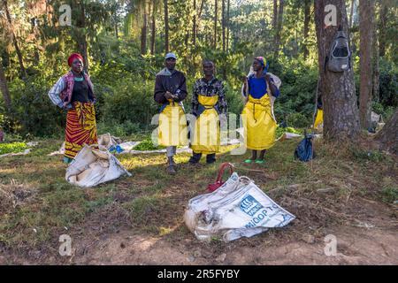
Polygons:
<instances>
[{"instance_id":1,"label":"slim reddish-brown trunk just right of the thick backpack tree","mask_svg":"<svg viewBox=\"0 0 398 283\"><path fill-rule=\"evenodd\" d=\"M371 92L372 92L372 47L374 0L359 1L359 31L360 31L360 67L361 85L359 92L359 118L361 126L367 129L371 126Z\"/></svg>"}]
</instances>

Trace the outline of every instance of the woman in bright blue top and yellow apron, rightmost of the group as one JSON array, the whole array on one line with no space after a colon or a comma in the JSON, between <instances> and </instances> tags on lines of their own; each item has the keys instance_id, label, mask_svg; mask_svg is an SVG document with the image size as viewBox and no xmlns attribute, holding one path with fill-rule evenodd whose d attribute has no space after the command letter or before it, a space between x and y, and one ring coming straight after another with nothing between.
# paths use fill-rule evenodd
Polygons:
<instances>
[{"instance_id":1,"label":"woman in bright blue top and yellow apron, rightmost of the group","mask_svg":"<svg viewBox=\"0 0 398 283\"><path fill-rule=\"evenodd\" d=\"M244 77L242 93L247 103L242 111L245 145L252 149L250 159L245 163L264 164L266 149L275 143L276 121L273 115L273 101L279 96L279 89L274 84L264 57L253 61L253 73ZM257 151L260 153L257 157Z\"/></svg>"}]
</instances>

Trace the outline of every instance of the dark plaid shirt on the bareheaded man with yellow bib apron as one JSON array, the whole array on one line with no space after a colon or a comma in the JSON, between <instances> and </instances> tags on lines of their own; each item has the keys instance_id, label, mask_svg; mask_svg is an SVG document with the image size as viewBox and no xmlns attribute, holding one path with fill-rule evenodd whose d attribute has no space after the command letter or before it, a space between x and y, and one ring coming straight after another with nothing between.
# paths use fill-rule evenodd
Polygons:
<instances>
[{"instance_id":1,"label":"dark plaid shirt on the bareheaded man with yellow bib apron","mask_svg":"<svg viewBox=\"0 0 398 283\"><path fill-rule=\"evenodd\" d=\"M213 77L210 81L204 78L196 80L194 85L194 95L192 96L192 112L198 113L199 101L198 96L218 96L218 103L215 105L219 114L228 112L228 104L226 103L226 92L224 84L221 80Z\"/></svg>"}]
</instances>

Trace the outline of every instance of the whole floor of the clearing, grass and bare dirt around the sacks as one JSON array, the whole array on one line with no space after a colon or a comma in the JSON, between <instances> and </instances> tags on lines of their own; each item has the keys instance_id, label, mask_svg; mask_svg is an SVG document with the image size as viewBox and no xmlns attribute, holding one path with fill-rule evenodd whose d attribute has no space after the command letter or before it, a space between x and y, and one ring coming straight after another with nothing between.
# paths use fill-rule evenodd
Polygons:
<instances>
[{"instance_id":1,"label":"whole floor of the clearing, grass and bare dirt around the sacks","mask_svg":"<svg viewBox=\"0 0 398 283\"><path fill-rule=\"evenodd\" d=\"M334 157L333 149L319 147L324 157L301 164L284 154L294 147L277 145L269 158L278 162L261 170L223 157L296 217L286 227L229 243L198 241L183 221L188 200L203 194L219 164L193 170L181 162L188 155L181 156L180 172L170 178L163 156L122 157L133 177L81 190L64 185L65 168L50 157L34 167L36 157L10 159L0 165L3 190L11 197L0 215L15 220L0 221L8 229L0 231L0 264L398 264L398 206L380 198L396 187L396 158ZM82 210L93 203L92 210ZM57 218L58 211L67 218ZM39 232L47 228L46 238L32 232L32 221ZM72 239L71 256L59 255L61 234Z\"/></svg>"}]
</instances>

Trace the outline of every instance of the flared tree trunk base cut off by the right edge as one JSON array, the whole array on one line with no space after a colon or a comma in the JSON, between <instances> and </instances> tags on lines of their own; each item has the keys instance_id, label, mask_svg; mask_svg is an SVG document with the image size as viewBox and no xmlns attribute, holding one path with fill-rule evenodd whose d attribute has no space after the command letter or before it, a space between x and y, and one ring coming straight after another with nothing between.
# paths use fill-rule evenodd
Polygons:
<instances>
[{"instance_id":1,"label":"flared tree trunk base cut off by the right edge","mask_svg":"<svg viewBox=\"0 0 398 283\"><path fill-rule=\"evenodd\" d=\"M394 154L398 154L398 108L393 117L387 121L386 125L376 135L375 139L379 141L380 148L386 149Z\"/></svg>"}]
</instances>

